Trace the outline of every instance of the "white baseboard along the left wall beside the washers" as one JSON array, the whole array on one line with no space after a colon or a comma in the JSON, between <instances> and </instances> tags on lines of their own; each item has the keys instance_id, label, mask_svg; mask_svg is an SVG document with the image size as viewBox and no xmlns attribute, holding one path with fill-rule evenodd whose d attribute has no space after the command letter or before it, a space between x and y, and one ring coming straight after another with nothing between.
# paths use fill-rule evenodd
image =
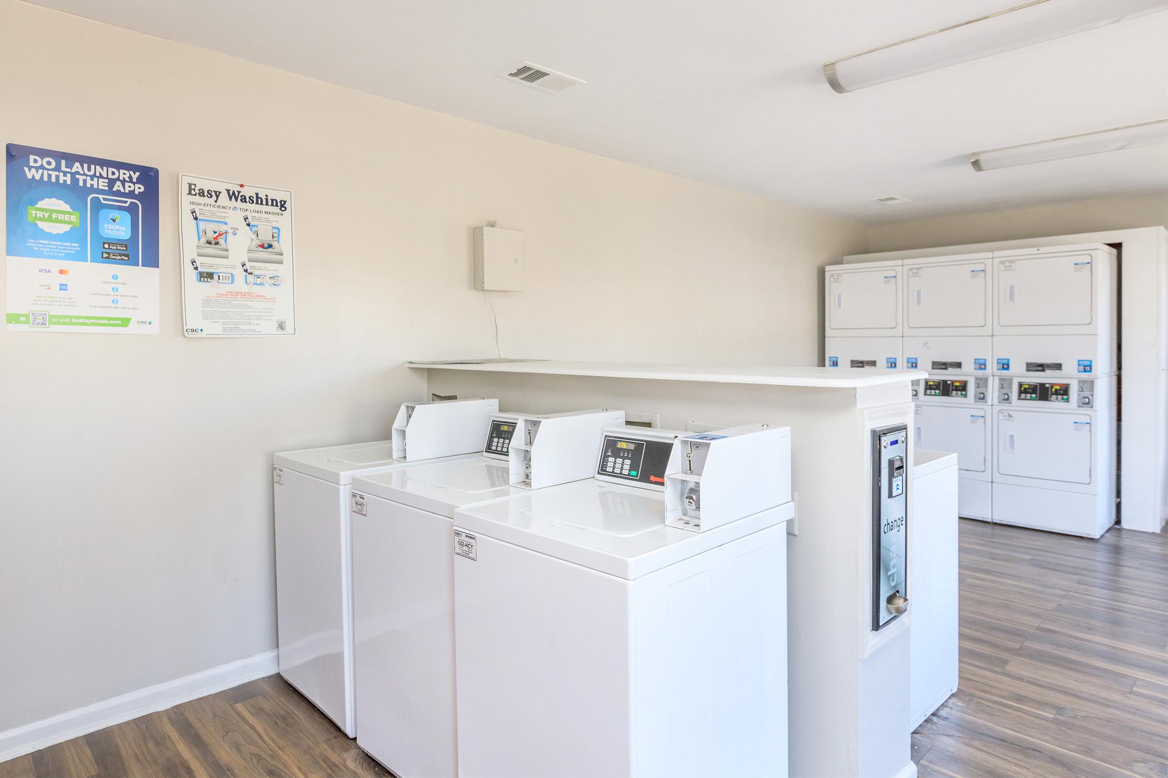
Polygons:
<instances>
[{"instance_id":1,"label":"white baseboard along the left wall beside the washers","mask_svg":"<svg viewBox=\"0 0 1168 778\"><path fill-rule=\"evenodd\" d=\"M55 743L104 729L112 724L166 710L239 684L271 675L279 670L274 649L245 659L176 678L137 692L110 698L30 724L0 733L0 762L14 759Z\"/></svg>"}]
</instances>

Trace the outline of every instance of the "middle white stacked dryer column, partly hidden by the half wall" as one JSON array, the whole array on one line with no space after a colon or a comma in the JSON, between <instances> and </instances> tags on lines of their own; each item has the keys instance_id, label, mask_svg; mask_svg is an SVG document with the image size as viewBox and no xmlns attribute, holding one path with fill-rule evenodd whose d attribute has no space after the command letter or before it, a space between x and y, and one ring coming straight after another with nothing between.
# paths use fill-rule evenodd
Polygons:
<instances>
[{"instance_id":1,"label":"middle white stacked dryer column, partly hidden by the half wall","mask_svg":"<svg viewBox=\"0 0 1168 778\"><path fill-rule=\"evenodd\" d=\"M958 455L960 516L989 520L993 364L993 255L904 264L904 366L913 381L917 448Z\"/></svg>"}]
</instances>

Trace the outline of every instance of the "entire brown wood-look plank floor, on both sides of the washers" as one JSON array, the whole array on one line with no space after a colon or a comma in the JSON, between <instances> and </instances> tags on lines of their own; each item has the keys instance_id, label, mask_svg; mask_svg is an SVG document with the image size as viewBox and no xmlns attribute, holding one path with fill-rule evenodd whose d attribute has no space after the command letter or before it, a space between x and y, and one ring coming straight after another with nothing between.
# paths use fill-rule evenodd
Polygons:
<instances>
[{"instance_id":1,"label":"entire brown wood-look plank floor, on both sides of the washers","mask_svg":"<svg viewBox=\"0 0 1168 778\"><path fill-rule=\"evenodd\" d=\"M1168 778L1168 533L961 520L960 688L926 776ZM9 776L388 776L278 675L0 764Z\"/></svg>"}]
</instances>

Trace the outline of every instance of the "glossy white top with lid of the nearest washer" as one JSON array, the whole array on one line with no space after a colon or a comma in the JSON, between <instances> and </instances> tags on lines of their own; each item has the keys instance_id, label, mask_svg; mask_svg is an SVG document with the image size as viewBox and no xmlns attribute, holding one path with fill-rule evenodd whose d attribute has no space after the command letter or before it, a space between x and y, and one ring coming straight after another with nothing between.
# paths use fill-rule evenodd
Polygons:
<instances>
[{"instance_id":1,"label":"glossy white top with lid of the nearest washer","mask_svg":"<svg viewBox=\"0 0 1168 778\"><path fill-rule=\"evenodd\" d=\"M454 526L482 538L638 579L794 516L786 503L707 532L665 524L660 492L577 481L459 509Z\"/></svg>"}]
</instances>

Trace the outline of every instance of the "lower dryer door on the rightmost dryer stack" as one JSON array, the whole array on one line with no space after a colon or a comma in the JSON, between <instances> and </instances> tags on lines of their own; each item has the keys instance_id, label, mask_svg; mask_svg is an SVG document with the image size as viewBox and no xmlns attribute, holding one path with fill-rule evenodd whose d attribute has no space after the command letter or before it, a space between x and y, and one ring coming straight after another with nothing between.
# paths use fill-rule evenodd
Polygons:
<instances>
[{"instance_id":1,"label":"lower dryer door on the rightmost dryer stack","mask_svg":"<svg viewBox=\"0 0 1168 778\"><path fill-rule=\"evenodd\" d=\"M997 411L997 472L1070 484L1091 483L1091 415Z\"/></svg>"}]
</instances>

